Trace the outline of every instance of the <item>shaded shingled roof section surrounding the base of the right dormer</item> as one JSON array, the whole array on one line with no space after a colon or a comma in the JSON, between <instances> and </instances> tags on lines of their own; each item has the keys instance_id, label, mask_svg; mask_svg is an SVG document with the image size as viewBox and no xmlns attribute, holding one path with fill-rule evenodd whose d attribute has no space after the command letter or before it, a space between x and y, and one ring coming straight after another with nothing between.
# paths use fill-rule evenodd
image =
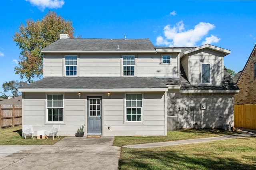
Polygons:
<instances>
[{"instance_id":1,"label":"shaded shingled roof section surrounding the base of the right dormer","mask_svg":"<svg viewBox=\"0 0 256 170\"><path fill-rule=\"evenodd\" d=\"M182 73L184 70L182 70ZM223 86L192 86L186 78L186 74L180 75L180 90L239 90L238 86L230 76L228 70L224 67Z\"/></svg>"}]
</instances>

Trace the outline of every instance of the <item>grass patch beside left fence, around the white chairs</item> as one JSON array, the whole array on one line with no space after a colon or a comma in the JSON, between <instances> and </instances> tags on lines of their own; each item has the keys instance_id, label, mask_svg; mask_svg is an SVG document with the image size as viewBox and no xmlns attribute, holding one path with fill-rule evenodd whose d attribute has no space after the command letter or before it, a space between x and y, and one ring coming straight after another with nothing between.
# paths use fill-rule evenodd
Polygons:
<instances>
[{"instance_id":1,"label":"grass patch beside left fence, around the white chairs","mask_svg":"<svg viewBox=\"0 0 256 170\"><path fill-rule=\"evenodd\" d=\"M36 133L34 133L36 135ZM34 136L34 140L30 137L26 137L26 141L22 137L22 127L10 127L5 129L0 129L0 145L53 145L57 143L64 137L60 137L60 139L49 137L46 139L36 139Z\"/></svg>"}]
</instances>

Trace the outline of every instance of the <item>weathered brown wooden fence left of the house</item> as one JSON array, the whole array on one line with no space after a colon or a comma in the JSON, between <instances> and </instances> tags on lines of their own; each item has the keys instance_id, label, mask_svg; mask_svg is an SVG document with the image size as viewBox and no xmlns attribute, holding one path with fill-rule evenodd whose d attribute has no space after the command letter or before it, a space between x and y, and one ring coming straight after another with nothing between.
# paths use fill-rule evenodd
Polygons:
<instances>
[{"instance_id":1,"label":"weathered brown wooden fence left of the house","mask_svg":"<svg viewBox=\"0 0 256 170\"><path fill-rule=\"evenodd\" d=\"M0 104L0 129L22 125L22 106Z\"/></svg>"}]
</instances>

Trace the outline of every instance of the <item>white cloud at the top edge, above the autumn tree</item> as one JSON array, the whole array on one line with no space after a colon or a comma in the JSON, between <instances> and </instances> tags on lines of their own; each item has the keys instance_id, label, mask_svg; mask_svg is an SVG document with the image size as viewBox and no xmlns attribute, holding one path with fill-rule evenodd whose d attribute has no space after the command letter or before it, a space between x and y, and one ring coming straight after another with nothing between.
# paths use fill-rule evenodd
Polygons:
<instances>
[{"instance_id":1,"label":"white cloud at the top edge, above the autumn tree","mask_svg":"<svg viewBox=\"0 0 256 170\"><path fill-rule=\"evenodd\" d=\"M64 0L26 0L30 4L37 6L41 11L45 8L61 8L64 5Z\"/></svg>"}]
</instances>

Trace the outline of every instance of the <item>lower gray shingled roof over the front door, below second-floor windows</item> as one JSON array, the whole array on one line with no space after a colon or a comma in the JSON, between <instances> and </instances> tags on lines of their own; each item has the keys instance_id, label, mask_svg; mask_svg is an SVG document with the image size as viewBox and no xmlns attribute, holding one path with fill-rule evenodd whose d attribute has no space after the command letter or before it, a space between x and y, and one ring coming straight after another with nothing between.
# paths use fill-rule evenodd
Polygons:
<instances>
[{"instance_id":1,"label":"lower gray shingled roof over the front door, below second-floor windows","mask_svg":"<svg viewBox=\"0 0 256 170\"><path fill-rule=\"evenodd\" d=\"M167 88L155 77L45 77L22 88ZM21 88L21 89L22 89Z\"/></svg>"}]
</instances>

